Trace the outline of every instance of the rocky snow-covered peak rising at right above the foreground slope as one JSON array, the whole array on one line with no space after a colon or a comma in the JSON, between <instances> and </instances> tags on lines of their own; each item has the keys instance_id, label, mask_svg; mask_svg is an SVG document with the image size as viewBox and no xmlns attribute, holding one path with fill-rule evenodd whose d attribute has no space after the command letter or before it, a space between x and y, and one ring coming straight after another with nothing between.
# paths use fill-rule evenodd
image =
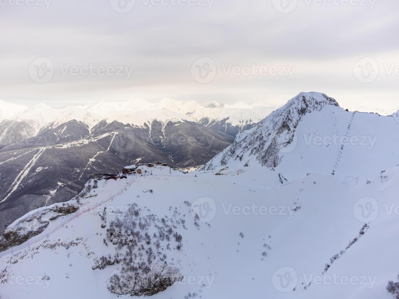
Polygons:
<instances>
[{"instance_id":1,"label":"rocky snow-covered peak rising at right above the foreground slope","mask_svg":"<svg viewBox=\"0 0 399 299\"><path fill-rule=\"evenodd\" d=\"M267 185L280 181L280 174L288 181L307 173L366 181L399 164L397 148L397 118L348 112L325 94L302 92L255 128L238 134L206 169L267 168Z\"/></svg>"}]
</instances>

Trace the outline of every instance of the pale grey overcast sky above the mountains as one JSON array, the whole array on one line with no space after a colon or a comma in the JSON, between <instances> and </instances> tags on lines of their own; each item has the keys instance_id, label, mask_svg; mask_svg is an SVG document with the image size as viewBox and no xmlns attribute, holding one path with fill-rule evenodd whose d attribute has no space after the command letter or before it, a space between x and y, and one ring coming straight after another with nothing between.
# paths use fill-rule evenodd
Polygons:
<instances>
[{"instance_id":1,"label":"pale grey overcast sky above the mountains","mask_svg":"<svg viewBox=\"0 0 399 299\"><path fill-rule=\"evenodd\" d=\"M319 91L393 112L398 11L397 0L0 0L0 99L280 105Z\"/></svg>"}]
</instances>

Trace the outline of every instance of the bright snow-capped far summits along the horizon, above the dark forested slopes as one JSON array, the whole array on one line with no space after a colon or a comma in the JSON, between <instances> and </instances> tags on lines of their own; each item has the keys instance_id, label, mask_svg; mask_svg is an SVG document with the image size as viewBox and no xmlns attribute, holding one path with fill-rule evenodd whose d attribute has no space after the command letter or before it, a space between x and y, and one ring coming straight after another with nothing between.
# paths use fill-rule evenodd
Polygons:
<instances>
[{"instance_id":1,"label":"bright snow-capped far summits along the horizon, above the dark forested slopes","mask_svg":"<svg viewBox=\"0 0 399 299\"><path fill-rule=\"evenodd\" d=\"M125 102L99 102L94 106L51 108L37 104L31 108L0 102L0 147L32 138L47 128L55 128L71 120L87 125L91 130L101 121L114 121L138 128L151 126L154 120L163 126L169 121L197 122L213 130L235 136L263 120L276 107L225 108L201 106L197 102L164 98L158 104L142 99Z\"/></svg>"}]
</instances>

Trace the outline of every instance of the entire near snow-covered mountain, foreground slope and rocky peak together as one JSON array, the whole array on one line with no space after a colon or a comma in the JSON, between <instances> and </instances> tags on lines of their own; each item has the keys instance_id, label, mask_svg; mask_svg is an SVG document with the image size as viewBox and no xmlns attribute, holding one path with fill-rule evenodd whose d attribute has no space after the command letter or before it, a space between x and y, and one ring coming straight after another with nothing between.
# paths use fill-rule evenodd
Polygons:
<instances>
[{"instance_id":1,"label":"entire near snow-covered mountain, foreground slope and rocky peak together","mask_svg":"<svg viewBox=\"0 0 399 299\"><path fill-rule=\"evenodd\" d=\"M390 299L398 129L300 93L198 171L90 180L6 229L0 295Z\"/></svg>"}]
</instances>

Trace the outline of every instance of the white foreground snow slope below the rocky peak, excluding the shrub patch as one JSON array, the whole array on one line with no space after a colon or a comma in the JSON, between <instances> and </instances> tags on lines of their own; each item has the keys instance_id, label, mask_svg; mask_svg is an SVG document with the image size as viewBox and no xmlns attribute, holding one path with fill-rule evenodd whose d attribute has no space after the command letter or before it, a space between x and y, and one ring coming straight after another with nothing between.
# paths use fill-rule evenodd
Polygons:
<instances>
[{"instance_id":1,"label":"white foreground snow slope below the rocky peak, excluding the shrub patch","mask_svg":"<svg viewBox=\"0 0 399 299\"><path fill-rule=\"evenodd\" d=\"M229 183L206 174L169 175L166 167L148 170L152 176L100 181L98 189L87 195L97 196L83 199L79 211L120 194L67 224L68 216L58 218L41 234L43 240L2 256L6 268L2 278L6 282L0 283L2 298L26 298L28 294L40 298L115 298L107 285L121 265L103 270L93 270L92 266L99 256L115 254L117 246L110 242L106 246L103 239L110 222L117 215L123 218L132 203L137 203L142 215L185 220L184 226L175 223L182 235L182 248L177 250L177 243L171 240L169 249L164 244L168 242L160 242L159 249L185 279L154 298L184 298L188 293L217 299L390 298L385 285L397 275L392 233L398 222L384 207L397 203L397 167L387 170L386 180L381 181L377 174L370 184L353 186L335 177L310 174L276 187L248 186L238 178ZM359 238L364 222L359 221L354 208L365 196L376 199L380 213ZM72 203L76 205L76 201ZM203 203L212 211L194 218L190 209L199 212L196 205L207 207ZM263 209L253 210L253 206ZM105 207L107 221L102 228L100 214ZM52 232L58 226L61 228ZM156 231L152 227L150 236ZM355 237L358 240L345 249ZM152 238L154 248L157 239ZM345 252L322 275L325 264L341 250ZM292 281L280 284L280 272L282 279L286 273L292 275ZM19 278L22 282L16 283L17 276L23 277ZM30 284L26 277L37 281ZM334 277L338 283L330 283ZM305 289L308 281L312 283ZM60 292L66 285L70 286L67 291Z\"/></svg>"}]
</instances>

